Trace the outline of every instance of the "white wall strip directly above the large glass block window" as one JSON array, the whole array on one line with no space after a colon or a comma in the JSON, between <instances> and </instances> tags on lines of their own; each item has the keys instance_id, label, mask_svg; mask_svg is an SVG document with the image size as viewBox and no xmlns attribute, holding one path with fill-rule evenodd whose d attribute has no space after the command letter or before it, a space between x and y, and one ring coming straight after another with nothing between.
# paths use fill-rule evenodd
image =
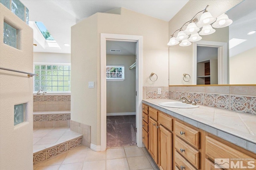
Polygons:
<instances>
[{"instance_id":1,"label":"white wall strip directly above the large glass block window","mask_svg":"<svg viewBox=\"0 0 256 170\"><path fill-rule=\"evenodd\" d=\"M34 63L69 63L70 64L71 54L34 52Z\"/></svg>"}]
</instances>

